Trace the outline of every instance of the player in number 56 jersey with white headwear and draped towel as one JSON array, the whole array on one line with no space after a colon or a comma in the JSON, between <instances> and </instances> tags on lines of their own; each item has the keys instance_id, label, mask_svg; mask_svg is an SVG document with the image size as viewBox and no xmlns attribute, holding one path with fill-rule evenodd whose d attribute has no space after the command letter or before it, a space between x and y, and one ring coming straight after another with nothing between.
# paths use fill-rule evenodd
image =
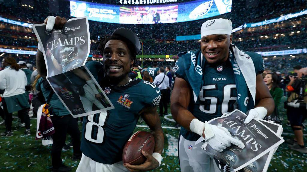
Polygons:
<instances>
[{"instance_id":1,"label":"player in number 56 jersey with white headwear and draped towel","mask_svg":"<svg viewBox=\"0 0 307 172\"><path fill-rule=\"evenodd\" d=\"M195 145L200 137L219 152L231 144L244 148L226 128L210 125L209 120L239 109L248 114L244 123L249 123L274 110L262 80L261 55L240 51L231 44L231 31L226 17L209 18L201 27L200 49L178 55L171 112L182 126L178 141L181 172L220 171L201 144Z\"/></svg>"}]
</instances>

